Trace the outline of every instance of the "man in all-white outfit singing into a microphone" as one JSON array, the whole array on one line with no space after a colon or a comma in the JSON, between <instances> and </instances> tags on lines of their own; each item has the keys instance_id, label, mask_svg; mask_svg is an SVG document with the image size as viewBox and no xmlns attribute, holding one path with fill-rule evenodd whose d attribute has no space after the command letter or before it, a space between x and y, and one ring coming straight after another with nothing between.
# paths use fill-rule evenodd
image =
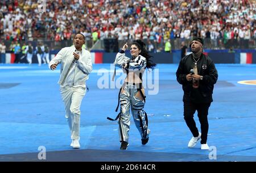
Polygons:
<instances>
[{"instance_id":1,"label":"man in all-white outfit singing into a microphone","mask_svg":"<svg viewBox=\"0 0 256 173\"><path fill-rule=\"evenodd\" d=\"M85 96L85 81L92 71L92 59L88 50L82 49L85 37L78 33L71 47L65 47L49 62L49 68L55 70L61 63L60 92L65 104L65 117L71 130L71 146L80 148L80 105Z\"/></svg>"}]
</instances>

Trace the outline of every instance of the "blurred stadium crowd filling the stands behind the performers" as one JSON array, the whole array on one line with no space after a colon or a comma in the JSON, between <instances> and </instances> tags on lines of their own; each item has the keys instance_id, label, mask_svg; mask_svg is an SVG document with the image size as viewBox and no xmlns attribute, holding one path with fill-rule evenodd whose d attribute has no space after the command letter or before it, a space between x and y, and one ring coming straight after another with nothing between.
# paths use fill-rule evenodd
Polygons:
<instances>
[{"instance_id":1,"label":"blurred stadium crowd filling the stands behind the performers","mask_svg":"<svg viewBox=\"0 0 256 173\"><path fill-rule=\"evenodd\" d=\"M154 0L2 0L0 38L32 41L72 40L77 32L86 40L117 37L118 40L149 39L255 39L254 0L154 1Z\"/></svg>"}]
</instances>

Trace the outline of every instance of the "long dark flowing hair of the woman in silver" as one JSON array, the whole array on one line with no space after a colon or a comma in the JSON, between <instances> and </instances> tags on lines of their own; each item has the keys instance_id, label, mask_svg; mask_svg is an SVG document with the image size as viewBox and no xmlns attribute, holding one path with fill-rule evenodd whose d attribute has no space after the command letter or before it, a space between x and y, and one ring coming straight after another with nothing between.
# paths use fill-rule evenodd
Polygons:
<instances>
[{"instance_id":1,"label":"long dark flowing hair of the woman in silver","mask_svg":"<svg viewBox=\"0 0 256 173\"><path fill-rule=\"evenodd\" d=\"M146 67L147 67L148 69L150 68L150 69L154 70L156 64L153 63L153 62L150 60L151 57L153 57L153 56L151 56L151 55L147 52L147 50L146 50L146 44L145 44L143 41L141 41L141 40L135 40L135 41L133 41L133 43L132 43L131 45L136 45L136 46L139 48L139 50L141 50L141 53L139 53L139 54L141 54L143 57L146 58L146 60L147 60L147 62L146 62Z\"/></svg>"}]
</instances>

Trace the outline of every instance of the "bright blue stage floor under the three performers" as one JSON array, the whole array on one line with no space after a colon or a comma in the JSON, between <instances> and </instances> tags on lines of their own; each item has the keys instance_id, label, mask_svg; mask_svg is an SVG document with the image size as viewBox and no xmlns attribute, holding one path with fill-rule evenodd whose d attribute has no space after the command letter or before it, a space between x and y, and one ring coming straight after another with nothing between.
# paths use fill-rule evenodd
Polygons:
<instances>
[{"instance_id":1,"label":"bright blue stage floor under the three performers","mask_svg":"<svg viewBox=\"0 0 256 173\"><path fill-rule=\"evenodd\" d=\"M256 85L238 83L256 80L256 65L218 64L216 68L219 77L208 115L208 145L216 147L217 159L209 159L211 151L201 150L200 142L193 149L187 147L192 134L183 119L183 91L175 75L177 64L159 64L159 75L158 70L148 73L156 75L154 79L159 77L159 85L156 81L154 88L157 91L159 86L158 94L148 94L152 88L146 86L144 110L148 114L150 140L146 146L141 145L131 117L126 151L119 150L117 122L106 119L117 115L114 110L119 88L98 87L103 78L98 71L109 71L109 64L94 64L87 81L89 92L81 105L79 150L69 146L69 128L57 84L59 68L51 71L47 65L1 64L0 161L39 161L39 146L46 147L49 155L55 153L52 161L256 161ZM110 82L112 74L106 76ZM196 114L195 120L200 129ZM122 154L122 160L112 157L116 153ZM86 154L90 157L82 156Z\"/></svg>"}]
</instances>

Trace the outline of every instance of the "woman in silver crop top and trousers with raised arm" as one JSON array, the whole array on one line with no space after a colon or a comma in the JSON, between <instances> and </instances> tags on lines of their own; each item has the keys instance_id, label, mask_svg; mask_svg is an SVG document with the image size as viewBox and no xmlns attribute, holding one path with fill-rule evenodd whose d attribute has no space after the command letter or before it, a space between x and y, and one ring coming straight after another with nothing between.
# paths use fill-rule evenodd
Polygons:
<instances>
[{"instance_id":1,"label":"woman in silver crop top and trousers with raised arm","mask_svg":"<svg viewBox=\"0 0 256 173\"><path fill-rule=\"evenodd\" d=\"M115 120L119 118L121 150L126 150L129 145L130 109L134 123L141 134L142 145L147 144L149 138L150 129L148 129L147 113L143 110L146 96L144 96L142 76L146 68L154 69L156 64L150 61L152 56L148 54L145 47L146 44L141 40L134 41L130 48L132 58L129 58L125 56L125 50L128 48L126 43L115 57L115 66L121 67L127 73L125 83L119 91L118 106L115 110L117 112L120 104L121 110ZM109 117L108 119L113 120Z\"/></svg>"}]
</instances>

